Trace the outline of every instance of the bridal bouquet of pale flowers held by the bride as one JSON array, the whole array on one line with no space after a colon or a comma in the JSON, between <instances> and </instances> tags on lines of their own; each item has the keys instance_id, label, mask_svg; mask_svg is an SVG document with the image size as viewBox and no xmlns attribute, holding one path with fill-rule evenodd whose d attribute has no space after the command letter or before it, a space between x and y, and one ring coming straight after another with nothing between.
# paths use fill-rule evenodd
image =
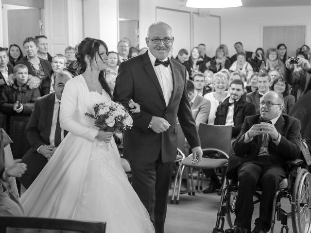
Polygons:
<instances>
[{"instance_id":1,"label":"bridal bouquet of pale flowers held by the bride","mask_svg":"<svg viewBox=\"0 0 311 233\"><path fill-rule=\"evenodd\" d=\"M95 104L94 112L94 115L90 113L85 115L95 119L95 126L100 130L120 133L133 126L133 119L126 109L112 100Z\"/></svg>"}]
</instances>

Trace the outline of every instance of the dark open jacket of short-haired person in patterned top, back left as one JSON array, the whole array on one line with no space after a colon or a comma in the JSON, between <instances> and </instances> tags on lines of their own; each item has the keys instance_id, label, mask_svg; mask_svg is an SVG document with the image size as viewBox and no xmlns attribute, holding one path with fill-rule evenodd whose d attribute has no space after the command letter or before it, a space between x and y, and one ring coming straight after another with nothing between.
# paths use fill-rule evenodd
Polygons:
<instances>
[{"instance_id":1,"label":"dark open jacket of short-haired person in patterned top, back left","mask_svg":"<svg viewBox=\"0 0 311 233\"><path fill-rule=\"evenodd\" d=\"M42 79L42 83L39 87L39 90L40 90L41 96L44 96L50 93L52 66L49 61L41 59L41 58L39 59L40 59L41 66L45 74L44 78ZM22 57L16 64L25 65L28 68L28 73L33 76L36 76L35 73L33 72L33 69L30 66L27 56Z\"/></svg>"}]
</instances>

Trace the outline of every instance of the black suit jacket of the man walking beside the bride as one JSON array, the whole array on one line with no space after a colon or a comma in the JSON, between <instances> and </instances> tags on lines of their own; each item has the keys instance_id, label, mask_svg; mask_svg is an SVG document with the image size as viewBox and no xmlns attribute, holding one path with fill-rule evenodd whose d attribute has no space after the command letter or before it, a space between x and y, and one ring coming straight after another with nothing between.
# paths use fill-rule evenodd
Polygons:
<instances>
[{"instance_id":1,"label":"black suit jacket of the man walking beside the bride","mask_svg":"<svg viewBox=\"0 0 311 233\"><path fill-rule=\"evenodd\" d=\"M162 162L176 159L178 116L190 147L200 146L195 121L186 91L186 68L170 60L173 92L166 106L148 51L121 63L114 89L114 97L128 107L133 99L140 105L140 113L133 115L133 128L124 133L124 156L139 162L152 163L160 154ZM170 128L163 133L149 129L152 116L166 119Z\"/></svg>"}]
</instances>

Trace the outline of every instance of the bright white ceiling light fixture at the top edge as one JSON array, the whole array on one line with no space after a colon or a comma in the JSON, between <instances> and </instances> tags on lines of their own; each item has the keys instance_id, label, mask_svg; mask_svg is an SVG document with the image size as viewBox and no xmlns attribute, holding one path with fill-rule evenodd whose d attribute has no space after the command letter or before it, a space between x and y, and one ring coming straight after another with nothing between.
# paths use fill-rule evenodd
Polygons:
<instances>
[{"instance_id":1,"label":"bright white ceiling light fixture at the top edge","mask_svg":"<svg viewBox=\"0 0 311 233\"><path fill-rule=\"evenodd\" d=\"M187 7L193 8L227 8L242 6L241 0L188 0Z\"/></svg>"}]
</instances>

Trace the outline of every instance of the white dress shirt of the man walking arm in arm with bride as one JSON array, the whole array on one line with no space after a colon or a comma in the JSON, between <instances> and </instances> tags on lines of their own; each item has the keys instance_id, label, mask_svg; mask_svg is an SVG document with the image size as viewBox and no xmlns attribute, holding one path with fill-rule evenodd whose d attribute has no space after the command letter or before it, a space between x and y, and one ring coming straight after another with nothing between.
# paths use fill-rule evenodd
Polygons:
<instances>
[{"instance_id":1,"label":"white dress shirt of the man walking arm in arm with bride","mask_svg":"<svg viewBox=\"0 0 311 233\"><path fill-rule=\"evenodd\" d=\"M149 50L148 50L148 55L149 55L151 64L155 69L155 74L160 83L162 93L164 96L164 100L167 106L172 97L172 91L173 91L173 75L172 75L172 70L170 67L171 65L169 65L168 67L165 67L163 65L158 65L155 67L155 60L156 60L155 56L152 55ZM167 61L167 60L168 58L162 61Z\"/></svg>"}]
</instances>

